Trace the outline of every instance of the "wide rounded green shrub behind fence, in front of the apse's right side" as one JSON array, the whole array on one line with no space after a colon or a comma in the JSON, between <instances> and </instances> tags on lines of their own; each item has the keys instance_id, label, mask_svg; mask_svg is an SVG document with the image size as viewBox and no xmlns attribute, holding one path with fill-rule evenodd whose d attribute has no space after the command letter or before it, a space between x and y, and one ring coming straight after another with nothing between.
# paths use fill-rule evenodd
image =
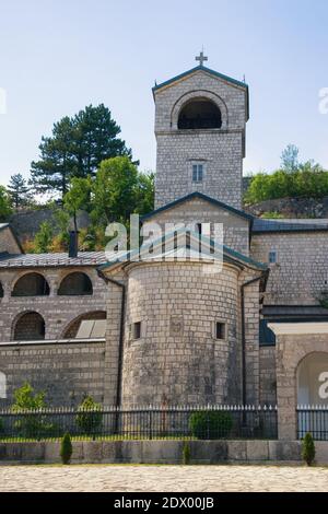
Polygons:
<instances>
[{"instance_id":1,"label":"wide rounded green shrub behind fence, in front of the apse's right side","mask_svg":"<svg viewBox=\"0 0 328 514\"><path fill-rule=\"evenodd\" d=\"M214 440L227 437L233 427L230 412L204 410L194 412L189 429L197 439Z\"/></svg>"}]
</instances>

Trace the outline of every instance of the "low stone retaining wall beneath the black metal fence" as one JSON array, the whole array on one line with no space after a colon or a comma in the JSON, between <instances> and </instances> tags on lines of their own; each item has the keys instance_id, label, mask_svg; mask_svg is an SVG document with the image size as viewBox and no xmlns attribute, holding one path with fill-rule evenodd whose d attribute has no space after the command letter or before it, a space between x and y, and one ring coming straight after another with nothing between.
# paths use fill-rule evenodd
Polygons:
<instances>
[{"instance_id":1,"label":"low stone retaining wall beneath the black metal fence","mask_svg":"<svg viewBox=\"0 0 328 514\"><path fill-rule=\"evenodd\" d=\"M191 464L301 463L300 441L190 441ZM73 442L72 464L181 464L183 441ZM4 463L60 463L60 443L0 443ZM317 442L317 463L328 464L328 442Z\"/></svg>"}]
</instances>

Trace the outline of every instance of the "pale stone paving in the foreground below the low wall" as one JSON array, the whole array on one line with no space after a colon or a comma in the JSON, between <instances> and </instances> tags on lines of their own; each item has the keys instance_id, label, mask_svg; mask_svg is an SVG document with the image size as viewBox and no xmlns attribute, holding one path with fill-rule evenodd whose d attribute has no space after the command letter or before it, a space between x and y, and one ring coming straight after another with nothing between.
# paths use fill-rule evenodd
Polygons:
<instances>
[{"instance_id":1,"label":"pale stone paving in the foreground below the low wall","mask_svg":"<svg viewBox=\"0 0 328 514\"><path fill-rule=\"evenodd\" d=\"M328 491L328 468L292 466L0 466L0 491Z\"/></svg>"}]
</instances>

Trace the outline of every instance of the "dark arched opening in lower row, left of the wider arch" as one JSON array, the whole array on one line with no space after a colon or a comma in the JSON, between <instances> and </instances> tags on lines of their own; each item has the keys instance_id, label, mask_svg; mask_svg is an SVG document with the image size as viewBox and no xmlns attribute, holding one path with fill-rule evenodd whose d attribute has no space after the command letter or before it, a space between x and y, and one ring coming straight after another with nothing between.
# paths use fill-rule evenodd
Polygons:
<instances>
[{"instance_id":1,"label":"dark arched opening in lower row, left of the wider arch","mask_svg":"<svg viewBox=\"0 0 328 514\"><path fill-rule=\"evenodd\" d=\"M12 340L39 341L46 336L46 323L36 311L25 311L19 314L12 326Z\"/></svg>"}]
</instances>

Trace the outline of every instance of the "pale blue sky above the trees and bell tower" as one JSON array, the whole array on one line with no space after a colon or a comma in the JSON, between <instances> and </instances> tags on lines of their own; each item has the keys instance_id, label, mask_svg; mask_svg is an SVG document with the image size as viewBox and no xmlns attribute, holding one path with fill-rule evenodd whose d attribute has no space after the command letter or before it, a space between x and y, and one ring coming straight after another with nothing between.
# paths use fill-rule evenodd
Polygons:
<instances>
[{"instance_id":1,"label":"pale blue sky above the trees and bell tower","mask_svg":"<svg viewBox=\"0 0 328 514\"><path fill-rule=\"evenodd\" d=\"M99 103L155 170L151 89L202 46L249 85L245 175L278 167L289 143L328 168L327 27L327 0L0 0L0 183L28 177L55 121Z\"/></svg>"}]
</instances>

